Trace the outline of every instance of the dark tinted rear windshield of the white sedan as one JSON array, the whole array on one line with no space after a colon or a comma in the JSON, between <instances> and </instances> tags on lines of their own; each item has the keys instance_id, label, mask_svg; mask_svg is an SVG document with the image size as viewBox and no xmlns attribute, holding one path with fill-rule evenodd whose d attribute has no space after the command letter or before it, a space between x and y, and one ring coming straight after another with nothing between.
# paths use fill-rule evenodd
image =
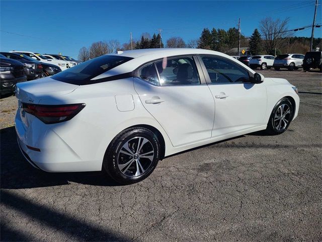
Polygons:
<instances>
[{"instance_id":1,"label":"dark tinted rear windshield of the white sedan","mask_svg":"<svg viewBox=\"0 0 322 242\"><path fill-rule=\"evenodd\" d=\"M102 55L100 57L90 59L63 72L53 75L51 78L75 85L88 85L100 82L92 78L101 75L125 62L130 61L131 57L118 55ZM120 73L123 74L123 73Z\"/></svg>"}]
</instances>

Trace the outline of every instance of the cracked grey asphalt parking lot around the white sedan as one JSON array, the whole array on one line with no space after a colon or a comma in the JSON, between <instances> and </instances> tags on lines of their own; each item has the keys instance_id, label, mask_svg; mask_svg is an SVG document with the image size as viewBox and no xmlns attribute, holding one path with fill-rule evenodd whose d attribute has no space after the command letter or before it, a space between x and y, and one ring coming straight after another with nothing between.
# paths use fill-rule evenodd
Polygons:
<instances>
[{"instance_id":1,"label":"cracked grey asphalt parking lot around the white sedan","mask_svg":"<svg viewBox=\"0 0 322 242\"><path fill-rule=\"evenodd\" d=\"M321 241L322 75L259 72L301 92L284 134L165 158L130 186L33 168L16 141L16 98L1 99L1 240Z\"/></svg>"}]
</instances>

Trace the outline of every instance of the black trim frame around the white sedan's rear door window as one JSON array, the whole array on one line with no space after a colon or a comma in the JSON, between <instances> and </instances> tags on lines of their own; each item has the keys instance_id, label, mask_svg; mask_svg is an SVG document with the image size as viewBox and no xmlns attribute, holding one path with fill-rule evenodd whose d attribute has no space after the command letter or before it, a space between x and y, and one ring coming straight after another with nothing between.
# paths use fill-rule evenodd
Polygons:
<instances>
[{"instance_id":1,"label":"black trim frame around the white sedan's rear door window","mask_svg":"<svg viewBox=\"0 0 322 242\"><path fill-rule=\"evenodd\" d=\"M137 67L134 71L133 71L133 77L136 77L140 80L142 80L143 82L149 84L149 85L152 85L152 86L155 86L155 87L190 87L190 86L201 86L201 85L207 85L206 83L206 78L205 78L205 75L204 75L204 72L202 70L202 67L200 65L200 61L198 59L198 54L180 54L180 55L171 55L171 56L164 56L164 57L167 57L167 58L177 58L177 57L184 57L184 56L192 56L193 58L193 61L195 62L195 65L197 67L197 72L198 72L198 75L199 75L199 79L200 79L200 83L199 84L191 84L191 85L155 85L149 81L146 81L146 80L143 80L142 78L140 78L140 75L139 75L139 70L149 64L153 64L154 65L154 68L156 70L156 74L157 74L157 78L158 78L158 82L160 83L160 76L159 76L159 72L157 70L157 67L156 67L156 62L159 62L159 61L162 61L164 57L161 57L161 58L157 58L157 59L154 59L152 61L148 61L142 65L140 65L139 67Z\"/></svg>"}]
</instances>

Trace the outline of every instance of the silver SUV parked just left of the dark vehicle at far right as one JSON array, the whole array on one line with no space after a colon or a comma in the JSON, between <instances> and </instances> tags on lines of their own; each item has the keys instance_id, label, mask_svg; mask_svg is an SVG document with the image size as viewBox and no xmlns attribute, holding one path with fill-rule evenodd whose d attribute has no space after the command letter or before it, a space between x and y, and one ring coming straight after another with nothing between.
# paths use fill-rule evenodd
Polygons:
<instances>
[{"instance_id":1,"label":"silver SUV parked just left of the dark vehicle at far right","mask_svg":"<svg viewBox=\"0 0 322 242\"><path fill-rule=\"evenodd\" d=\"M279 54L274 60L273 67L275 70L286 68L289 71L303 68L303 54Z\"/></svg>"}]
</instances>

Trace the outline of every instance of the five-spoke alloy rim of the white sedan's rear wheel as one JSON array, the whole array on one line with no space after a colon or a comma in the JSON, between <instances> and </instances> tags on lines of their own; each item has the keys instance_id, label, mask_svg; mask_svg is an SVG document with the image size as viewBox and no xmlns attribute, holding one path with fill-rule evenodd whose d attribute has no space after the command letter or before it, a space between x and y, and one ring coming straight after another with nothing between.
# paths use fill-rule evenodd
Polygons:
<instances>
[{"instance_id":1,"label":"five-spoke alloy rim of the white sedan's rear wheel","mask_svg":"<svg viewBox=\"0 0 322 242\"><path fill-rule=\"evenodd\" d=\"M150 167L154 159L151 142L144 137L132 138L123 144L117 155L119 170L126 176L137 177Z\"/></svg>"}]
</instances>

